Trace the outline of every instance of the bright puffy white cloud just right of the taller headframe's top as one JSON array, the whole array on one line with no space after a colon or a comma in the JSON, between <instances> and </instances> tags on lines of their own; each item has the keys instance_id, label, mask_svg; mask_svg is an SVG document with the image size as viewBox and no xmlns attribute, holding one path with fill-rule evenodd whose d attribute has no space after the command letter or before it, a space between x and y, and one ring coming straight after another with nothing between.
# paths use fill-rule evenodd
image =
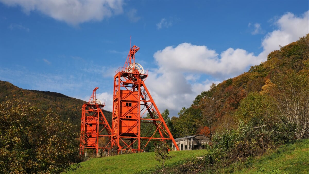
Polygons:
<instances>
[{"instance_id":1,"label":"bright puffy white cloud just right of the taller headframe's top","mask_svg":"<svg viewBox=\"0 0 309 174\"><path fill-rule=\"evenodd\" d=\"M229 48L220 56L206 46L182 43L167 46L154 54L160 70L190 73L205 73L214 76L237 75L248 66L260 63L260 60L243 49Z\"/></svg>"}]
</instances>

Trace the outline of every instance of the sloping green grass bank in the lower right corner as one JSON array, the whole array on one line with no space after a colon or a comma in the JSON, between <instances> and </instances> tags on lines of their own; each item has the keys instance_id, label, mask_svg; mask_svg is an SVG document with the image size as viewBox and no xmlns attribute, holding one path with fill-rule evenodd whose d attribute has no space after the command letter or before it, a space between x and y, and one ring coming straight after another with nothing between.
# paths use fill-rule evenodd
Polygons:
<instances>
[{"instance_id":1,"label":"sloping green grass bank in the lower right corner","mask_svg":"<svg viewBox=\"0 0 309 174\"><path fill-rule=\"evenodd\" d=\"M278 149L248 160L246 163L235 163L229 168L219 169L218 173L308 174L309 139L280 146Z\"/></svg>"}]
</instances>

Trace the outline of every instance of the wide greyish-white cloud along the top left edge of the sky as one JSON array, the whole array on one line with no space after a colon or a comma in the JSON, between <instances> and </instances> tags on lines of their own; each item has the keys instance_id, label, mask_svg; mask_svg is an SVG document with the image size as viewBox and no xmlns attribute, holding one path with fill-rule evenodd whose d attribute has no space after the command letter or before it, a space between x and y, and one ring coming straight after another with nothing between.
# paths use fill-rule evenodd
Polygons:
<instances>
[{"instance_id":1,"label":"wide greyish-white cloud along the top left edge of the sky","mask_svg":"<svg viewBox=\"0 0 309 174\"><path fill-rule=\"evenodd\" d=\"M121 0L1 0L1 2L8 6L20 6L26 14L39 11L71 25L101 21L123 12Z\"/></svg>"}]
</instances>

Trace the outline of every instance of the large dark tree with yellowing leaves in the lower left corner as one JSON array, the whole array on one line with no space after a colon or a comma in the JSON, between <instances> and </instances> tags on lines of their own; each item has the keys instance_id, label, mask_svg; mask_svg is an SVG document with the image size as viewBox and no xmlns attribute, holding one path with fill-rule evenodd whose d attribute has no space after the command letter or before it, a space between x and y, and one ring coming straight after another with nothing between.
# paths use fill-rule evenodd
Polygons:
<instances>
[{"instance_id":1,"label":"large dark tree with yellowing leaves in the lower left corner","mask_svg":"<svg viewBox=\"0 0 309 174\"><path fill-rule=\"evenodd\" d=\"M78 162L78 133L52 111L15 100L0 104L0 171L61 173Z\"/></svg>"}]
</instances>

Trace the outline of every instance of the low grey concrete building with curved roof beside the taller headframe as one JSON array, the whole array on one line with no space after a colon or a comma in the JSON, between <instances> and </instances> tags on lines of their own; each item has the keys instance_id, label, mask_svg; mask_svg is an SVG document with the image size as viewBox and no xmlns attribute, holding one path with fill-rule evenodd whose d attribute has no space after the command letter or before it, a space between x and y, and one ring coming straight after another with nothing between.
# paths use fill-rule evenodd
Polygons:
<instances>
[{"instance_id":1,"label":"low grey concrete building with curved roof beside the taller headframe","mask_svg":"<svg viewBox=\"0 0 309 174\"><path fill-rule=\"evenodd\" d=\"M192 135L183 138L176 138L176 144L179 147L179 150L199 150L204 149L203 145L209 143L208 137L205 135ZM172 150L176 150L176 147L172 143Z\"/></svg>"}]
</instances>

